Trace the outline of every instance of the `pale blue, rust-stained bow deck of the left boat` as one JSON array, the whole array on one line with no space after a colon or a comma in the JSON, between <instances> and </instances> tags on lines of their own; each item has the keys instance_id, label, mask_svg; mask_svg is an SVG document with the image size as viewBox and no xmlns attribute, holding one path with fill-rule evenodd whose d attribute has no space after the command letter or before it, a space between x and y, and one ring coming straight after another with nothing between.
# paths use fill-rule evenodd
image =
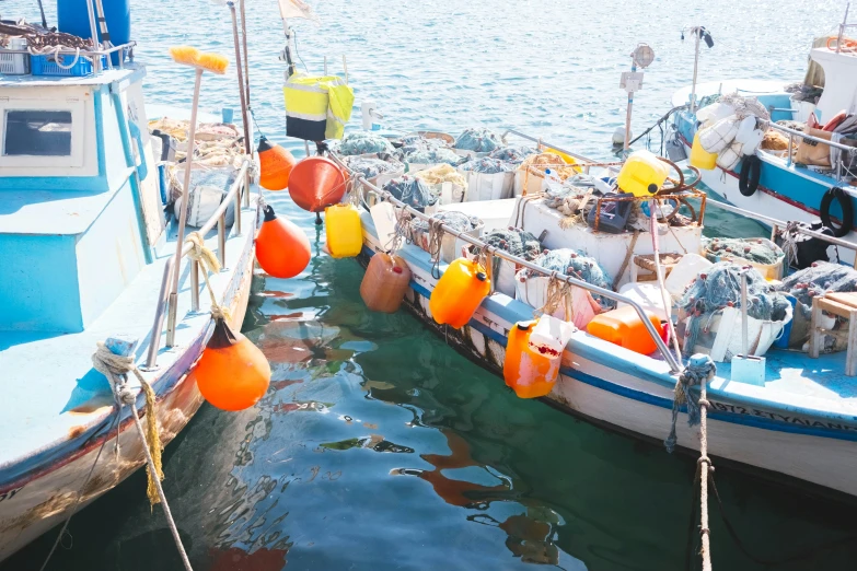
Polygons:
<instances>
[{"instance_id":1,"label":"pale blue, rust-stained bow deck of the left boat","mask_svg":"<svg viewBox=\"0 0 857 571\"><path fill-rule=\"evenodd\" d=\"M256 206L241 212L242 235L234 225L227 234L227 268L235 268L246 254L247 241L253 240ZM175 224L173 224L175 226ZM195 229L188 229L193 232ZM137 363L142 365L149 348L149 335L154 318L164 266L175 254L175 228L172 236L159 245L155 259L146 266L128 288L85 330L78 334L46 334L32 331L0 331L0 371L3 399L0 407L0 482L16 479L34 464L60 456L67 447L99 430L108 418L113 396L107 380L92 368L91 357L96 342L121 335L140 339L136 350ZM206 245L217 250L217 231L206 236ZM157 393L161 374L182 357L182 348L189 345L210 324L209 296L200 277L200 313L192 313L189 268L185 264L179 277L178 325L176 348L162 348L159 369L144 373L154 383ZM211 276L211 286L222 299L231 271ZM161 345L165 331L161 337Z\"/></svg>"}]
</instances>

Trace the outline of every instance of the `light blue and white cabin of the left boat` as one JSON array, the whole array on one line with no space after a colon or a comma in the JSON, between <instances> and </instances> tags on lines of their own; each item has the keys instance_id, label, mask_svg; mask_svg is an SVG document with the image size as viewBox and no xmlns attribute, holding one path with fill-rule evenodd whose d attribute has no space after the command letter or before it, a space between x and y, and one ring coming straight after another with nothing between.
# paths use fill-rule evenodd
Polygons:
<instances>
[{"instance_id":1,"label":"light blue and white cabin of the left boat","mask_svg":"<svg viewBox=\"0 0 857 571\"><path fill-rule=\"evenodd\" d=\"M0 330L82 331L151 261L144 74L0 77Z\"/></svg>"}]
</instances>

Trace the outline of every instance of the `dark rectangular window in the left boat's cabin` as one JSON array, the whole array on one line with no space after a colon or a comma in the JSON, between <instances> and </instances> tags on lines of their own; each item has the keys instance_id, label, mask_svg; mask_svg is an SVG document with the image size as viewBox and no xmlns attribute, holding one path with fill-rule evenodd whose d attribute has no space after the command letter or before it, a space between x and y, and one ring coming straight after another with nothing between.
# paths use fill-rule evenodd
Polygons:
<instances>
[{"instance_id":1,"label":"dark rectangular window in the left boat's cabin","mask_svg":"<svg viewBox=\"0 0 857 571\"><path fill-rule=\"evenodd\" d=\"M70 156L71 112L7 110L3 155Z\"/></svg>"}]
</instances>

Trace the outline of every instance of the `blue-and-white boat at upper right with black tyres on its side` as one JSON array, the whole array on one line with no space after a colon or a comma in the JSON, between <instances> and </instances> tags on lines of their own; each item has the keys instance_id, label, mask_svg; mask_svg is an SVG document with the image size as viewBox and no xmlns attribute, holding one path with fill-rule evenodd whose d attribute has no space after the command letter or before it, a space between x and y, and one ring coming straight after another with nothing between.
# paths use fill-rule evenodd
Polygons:
<instances>
[{"instance_id":1,"label":"blue-and-white boat at upper right with black tyres on its side","mask_svg":"<svg viewBox=\"0 0 857 571\"><path fill-rule=\"evenodd\" d=\"M737 93L756 98L769 113L768 128L788 140L788 149L765 149L763 144L756 150L754 155L761 162L757 186L751 183L743 193L739 185L741 172L748 165L748 161L743 160L731 168L717 166L703 171L706 186L734 206L774 219L813 222L819 218L823 221L830 218L838 226L837 236L857 243L857 233L854 232L857 213L852 206L857 198L854 187L857 176L854 172L857 159L854 137L850 136L849 144L848 141L843 144L835 139L831 142L830 137L826 140L820 139L819 133L812 136L796 130L794 124L789 126L779 123L802 124L810 114L814 114L823 126L843 110L850 114L857 110L857 44L847 37L848 32L857 24L849 24L847 20L846 10L845 19L838 26L838 36L818 38L810 50L811 69L808 72L808 81L820 81L823 85L818 103L802 101L800 94L796 96L794 89L787 91L787 85L781 82L755 79L726 79L688 85L676 91L671 103L675 112L672 114L675 139L690 153L694 136L700 127L696 114L703 104L721 94ZM812 68L821 69L823 73ZM795 151L801 143L832 145L841 152L829 165L807 166L795 160ZM750 175L751 173L748 173L749 179L752 180ZM844 261L855 261L852 250L841 254Z\"/></svg>"}]
</instances>

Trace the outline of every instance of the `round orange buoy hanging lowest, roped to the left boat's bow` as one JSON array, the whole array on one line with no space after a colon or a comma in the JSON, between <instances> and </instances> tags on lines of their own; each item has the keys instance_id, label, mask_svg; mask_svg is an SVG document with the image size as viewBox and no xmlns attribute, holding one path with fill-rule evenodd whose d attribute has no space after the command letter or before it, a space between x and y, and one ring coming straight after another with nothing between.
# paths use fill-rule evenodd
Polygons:
<instances>
[{"instance_id":1,"label":"round orange buoy hanging lowest, roped to the left boat's bow","mask_svg":"<svg viewBox=\"0 0 857 571\"><path fill-rule=\"evenodd\" d=\"M270 384L265 354L222 317L216 318L215 333L192 374L206 400L223 410L252 407Z\"/></svg>"}]
</instances>

